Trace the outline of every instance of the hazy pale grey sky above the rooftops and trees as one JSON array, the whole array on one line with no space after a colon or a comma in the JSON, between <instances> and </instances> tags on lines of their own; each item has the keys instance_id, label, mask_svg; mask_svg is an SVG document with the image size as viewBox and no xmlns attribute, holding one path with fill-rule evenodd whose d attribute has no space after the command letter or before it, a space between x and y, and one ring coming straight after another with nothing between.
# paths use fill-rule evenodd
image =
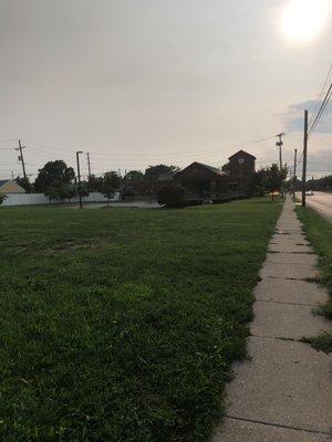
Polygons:
<instances>
[{"instance_id":1,"label":"hazy pale grey sky above the rooftops and trees","mask_svg":"<svg viewBox=\"0 0 332 442\"><path fill-rule=\"evenodd\" d=\"M331 0L301 1L0 0L0 178L22 175L19 138L32 180L77 150L95 175L239 149L260 167L282 131L292 164L332 62ZM332 173L331 103L308 158Z\"/></svg>"}]
</instances>

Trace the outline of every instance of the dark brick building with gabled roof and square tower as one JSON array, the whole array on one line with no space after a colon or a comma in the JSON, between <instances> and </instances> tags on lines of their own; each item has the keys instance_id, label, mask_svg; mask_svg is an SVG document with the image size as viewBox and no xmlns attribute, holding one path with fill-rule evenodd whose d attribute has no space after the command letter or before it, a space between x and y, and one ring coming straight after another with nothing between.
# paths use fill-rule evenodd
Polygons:
<instances>
[{"instance_id":1,"label":"dark brick building with gabled roof and square tower","mask_svg":"<svg viewBox=\"0 0 332 442\"><path fill-rule=\"evenodd\" d=\"M191 162L175 179L188 199L217 199L228 193L246 193L255 173L256 158L239 150L229 157L227 171L201 162Z\"/></svg>"}]
</instances>

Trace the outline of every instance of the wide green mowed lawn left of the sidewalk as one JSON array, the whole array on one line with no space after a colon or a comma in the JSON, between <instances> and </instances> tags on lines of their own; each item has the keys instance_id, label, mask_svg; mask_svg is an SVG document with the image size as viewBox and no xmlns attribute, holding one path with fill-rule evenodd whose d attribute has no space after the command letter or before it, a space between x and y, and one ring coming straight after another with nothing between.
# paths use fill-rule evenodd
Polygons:
<instances>
[{"instance_id":1,"label":"wide green mowed lawn left of the sidewalk","mask_svg":"<svg viewBox=\"0 0 332 442\"><path fill-rule=\"evenodd\" d=\"M0 209L0 440L207 441L280 209Z\"/></svg>"}]
</instances>

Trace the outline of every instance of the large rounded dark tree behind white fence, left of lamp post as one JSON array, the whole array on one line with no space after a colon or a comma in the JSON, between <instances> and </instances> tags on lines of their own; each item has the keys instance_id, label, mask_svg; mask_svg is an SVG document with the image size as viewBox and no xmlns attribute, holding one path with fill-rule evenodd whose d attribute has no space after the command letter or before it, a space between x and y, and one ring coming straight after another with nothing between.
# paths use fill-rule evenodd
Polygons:
<instances>
[{"instance_id":1,"label":"large rounded dark tree behind white fence, left of lamp post","mask_svg":"<svg viewBox=\"0 0 332 442\"><path fill-rule=\"evenodd\" d=\"M49 161L42 169L39 169L38 177L34 181L34 188L39 192L43 192L49 187L60 187L62 185L70 185L75 178L75 172L72 167L58 159Z\"/></svg>"}]
</instances>

